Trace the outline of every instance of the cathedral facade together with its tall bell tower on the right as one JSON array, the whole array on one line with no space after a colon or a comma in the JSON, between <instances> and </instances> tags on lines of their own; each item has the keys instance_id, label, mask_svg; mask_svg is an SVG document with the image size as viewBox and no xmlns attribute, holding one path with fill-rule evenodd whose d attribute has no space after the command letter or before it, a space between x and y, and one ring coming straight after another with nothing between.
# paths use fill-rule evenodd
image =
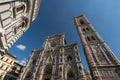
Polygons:
<instances>
[{"instance_id":1,"label":"cathedral facade together with its tall bell tower on the right","mask_svg":"<svg viewBox=\"0 0 120 80\"><path fill-rule=\"evenodd\" d=\"M74 22L89 71L82 66L77 43L67 44L64 34L45 39L33 50L19 80L120 80L120 62L84 15Z\"/></svg>"}]
</instances>

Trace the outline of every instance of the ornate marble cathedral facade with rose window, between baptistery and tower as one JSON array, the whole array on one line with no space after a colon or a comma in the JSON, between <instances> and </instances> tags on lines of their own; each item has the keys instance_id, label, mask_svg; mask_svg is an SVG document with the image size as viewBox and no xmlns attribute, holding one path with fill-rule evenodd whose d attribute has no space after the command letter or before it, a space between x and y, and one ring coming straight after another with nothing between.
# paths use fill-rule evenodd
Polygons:
<instances>
[{"instance_id":1,"label":"ornate marble cathedral facade with rose window, between baptistery and tower","mask_svg":"<svg viewBox=\"0 0 120 80\"><path fill-rule=\"evenodd\" d=\"M32 51L19 80L87 80L85 74L77 43L68 45L64 34L58 34Z\"/></svg>"}]
</instances>

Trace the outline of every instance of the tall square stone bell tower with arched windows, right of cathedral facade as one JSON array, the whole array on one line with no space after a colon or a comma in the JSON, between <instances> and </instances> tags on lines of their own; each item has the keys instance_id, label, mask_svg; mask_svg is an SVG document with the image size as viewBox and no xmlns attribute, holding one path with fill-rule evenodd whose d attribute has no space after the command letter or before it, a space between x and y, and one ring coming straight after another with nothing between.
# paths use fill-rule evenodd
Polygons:
<instances>
[{"instance_id":1,"label":"tall square stone bell tower with arched windows, right of cathedral facade","mask_svg":"<svg viewBox=\"0 0 120 80\"><path fill-rule=\"evenodd\" d=\"M84 15L74 17L93 80L120 80L120 62Z\"/></svg>"}]
</instances>

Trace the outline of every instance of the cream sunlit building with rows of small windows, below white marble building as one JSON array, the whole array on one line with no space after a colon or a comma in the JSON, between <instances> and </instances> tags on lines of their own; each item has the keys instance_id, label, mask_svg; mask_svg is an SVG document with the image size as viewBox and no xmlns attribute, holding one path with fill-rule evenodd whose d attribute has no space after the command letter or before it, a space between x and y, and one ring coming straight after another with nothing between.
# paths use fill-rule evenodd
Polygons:
<instances>
[{"instance_id":1,"label":"cream sunlit building with rows of small windows, below white marble building","mask_svg":"<svg viewBox=\"0 0 120 80\"><path fill-rule=\"evenodd\" d=\"M3 80L7 72L11 70L11 67L13 67L15 61L16 57L10 53L6 53L4 56L2 56L0 59L0 80Z\"/></svg>"}]
</instances>

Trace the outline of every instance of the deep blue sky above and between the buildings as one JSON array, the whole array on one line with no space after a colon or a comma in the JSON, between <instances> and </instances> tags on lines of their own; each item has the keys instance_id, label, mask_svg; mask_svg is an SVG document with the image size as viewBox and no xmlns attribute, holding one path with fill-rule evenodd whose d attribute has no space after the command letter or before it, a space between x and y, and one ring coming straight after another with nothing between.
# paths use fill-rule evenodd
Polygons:
<instances>
[{"instance_id":1,"label":"deep blue sky above and between the buildings","mask_svg":"<svg viewBox=\"0 0 120 80\"><path fill-rule=\"evenodd\" d=\"M119 8L120 0L42 0L38 17L9 52L19 61L25 60L32 50L42 48L45 37L65 33L68 44L78 42L83 66L87 68L73 19L85 14L120 60Z\"/></svg>"}]
</instances>

